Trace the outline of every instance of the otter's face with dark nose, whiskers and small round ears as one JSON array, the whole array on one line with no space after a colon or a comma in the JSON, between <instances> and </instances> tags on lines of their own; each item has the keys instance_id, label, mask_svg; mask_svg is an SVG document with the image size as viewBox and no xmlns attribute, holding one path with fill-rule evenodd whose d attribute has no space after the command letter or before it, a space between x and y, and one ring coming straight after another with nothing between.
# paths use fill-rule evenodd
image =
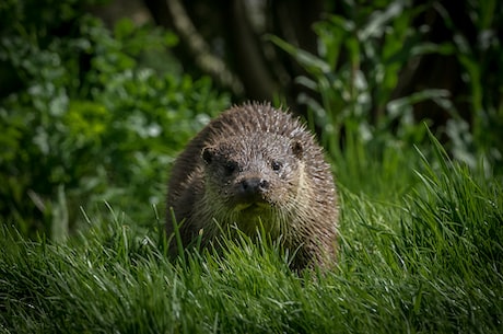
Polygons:
<instances>
[{"instance_id":1,"label":"otter's face with dark nose, whiskers and small round ears","mask_svg":"<svg viewBox=\"0 0 503 334\"><path fill-rule=\"evenodd\" d=\"M234 215L284 210L297 194L302 154L301 142L269 134L231 137L207 147L201 154L207 195Z\"/></svg>"}]
</instances>

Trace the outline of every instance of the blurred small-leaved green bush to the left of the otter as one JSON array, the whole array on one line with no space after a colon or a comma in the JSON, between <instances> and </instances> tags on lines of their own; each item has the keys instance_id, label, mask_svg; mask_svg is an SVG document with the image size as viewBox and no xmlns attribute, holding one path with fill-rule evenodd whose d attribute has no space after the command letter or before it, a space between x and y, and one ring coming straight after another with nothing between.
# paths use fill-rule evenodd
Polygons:
<instances>
[{"instance_id":1,"label":"blurred small-leaved green bush to the left of the otter","mask_svg":"<svg viewBox=\"0 0 503 334\"><path fill-rule=\"evenodd\" d=\"M2 222L62 237L82 220L80 206L103 200L152 220L173 157L229 97L179 72L171 33L122 20L112 34L77 2L58 4L68 18L42 22L25 2L11 4L19 15L0 39L2 67L17 77L0 96ZM49 34L57 28L70 33Z\"/></svg>"}]
</instances>

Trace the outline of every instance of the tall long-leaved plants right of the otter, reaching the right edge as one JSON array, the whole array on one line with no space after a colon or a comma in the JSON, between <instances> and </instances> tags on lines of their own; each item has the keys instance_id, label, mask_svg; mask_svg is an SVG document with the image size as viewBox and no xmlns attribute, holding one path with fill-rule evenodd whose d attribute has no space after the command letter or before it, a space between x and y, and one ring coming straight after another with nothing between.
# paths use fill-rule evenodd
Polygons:
<instances>
[{"instance_id":1,"label":"tall long-leaved plants right of the otter, reaching the right edge","mask_svg":"<svg viewBox=\"0 0 503 334\"><path fill-rule=\"evenodd\" d=\"M413 106L432 101L451 115L446 127L437 134L448 138L449 153L473 169L482 157L489 173L500 173L503 76L494 72L493 66L501 64L503 50L496 38L502 14L493 12L496 1L465 3L480 39L476 45L470 45L469 36L455 25L441 2L412 7L410 1L372 4L348 1L341 5L348 7L346 16L330 15L314 26L318 55L297 49L276 36L269 37L308 73L297 78L297 82L321 96L321 104L308 95L300 96L300 101L313 112L309 123L320 128L323 143L335 160L341 158L340 141L347 136L360 138L377 150L378 156L384 153L379 147L428 145L425 127L417 122ZM424 11L438 12L452 30L454 41L425 42L430 27L414 27L414 20ZM408 96L395 96L399 80L403 80L402 72L429 54L457 59L463 68L459 76L468 81L466 96L451 96L447 90L429 88ZM501 72L501 66L496 71ZM455 100L471 103L468 119L461 118Z\"/></svg>"}]
</instances>

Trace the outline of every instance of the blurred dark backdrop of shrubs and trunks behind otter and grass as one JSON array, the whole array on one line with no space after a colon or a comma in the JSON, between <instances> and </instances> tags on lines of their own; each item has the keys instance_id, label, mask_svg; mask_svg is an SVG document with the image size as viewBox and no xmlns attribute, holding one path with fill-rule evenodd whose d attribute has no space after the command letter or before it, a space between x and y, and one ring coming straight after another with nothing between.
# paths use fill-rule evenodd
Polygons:
<instances>
[{"instance_id":1,"label":"blurred dark backdrop of shrubs and trunks behind otter and grass","mask_svg":"<svg viewBox=\"0 0 503 334\"><path fill-rule=\"evenodd\" d=\"M107 203L161 226L176 154L248 100L306 119L354 192L355 150L428 156L426 126L501 175L502 20L498 0L4 0L0 223L60 240Z\"/></svg>"}]
</instances>

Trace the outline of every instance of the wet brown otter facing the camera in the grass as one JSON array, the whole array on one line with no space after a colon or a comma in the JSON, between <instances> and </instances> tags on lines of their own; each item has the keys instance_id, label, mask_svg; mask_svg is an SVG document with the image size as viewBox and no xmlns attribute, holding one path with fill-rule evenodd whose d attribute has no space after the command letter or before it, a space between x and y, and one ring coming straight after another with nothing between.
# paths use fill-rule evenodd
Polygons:
<instances>
[{"instance_id":1,"label":"wet brown otter facing the camera in the grass","mask_svg":"<svg viewBox=\"0 0 503 334\"><path fill-rule=\"evenodd\" d=\"M198 235L208 246L232 226L250 237L264 229L294 253L294 269L335 263L330 165L306 127L269 103L235 105L196 135L173 165L166 201L166 232L179 223L184 247Z\"/></svg>"}]
</instances>

